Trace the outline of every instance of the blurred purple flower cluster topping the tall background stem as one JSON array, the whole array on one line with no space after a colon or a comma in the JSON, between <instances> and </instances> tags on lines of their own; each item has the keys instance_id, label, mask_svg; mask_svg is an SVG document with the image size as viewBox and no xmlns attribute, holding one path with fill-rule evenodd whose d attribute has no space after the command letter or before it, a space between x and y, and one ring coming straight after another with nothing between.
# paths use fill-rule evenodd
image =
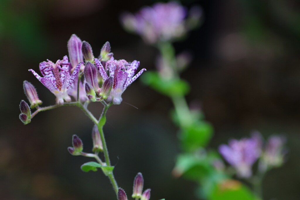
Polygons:
<instances>
[{"instance_id":1,"label":"blurred purple flower cluster topping the tall background stem","mask_svg":"<svg viewBox=\"0 0 300 200\"><path fill-rule=\"evenodd\" d=\"M147 43L156 43L159 40L182 37L189 29L185 20L186 16L187 9L171 1L156 3L152 7L143 7L135 15L124 13L121 16L121 22L125 29L140 34ZM198 16L200 17L201 13ZM197 18L195 9L191 17Z\"/></svg>"}]
</instances>

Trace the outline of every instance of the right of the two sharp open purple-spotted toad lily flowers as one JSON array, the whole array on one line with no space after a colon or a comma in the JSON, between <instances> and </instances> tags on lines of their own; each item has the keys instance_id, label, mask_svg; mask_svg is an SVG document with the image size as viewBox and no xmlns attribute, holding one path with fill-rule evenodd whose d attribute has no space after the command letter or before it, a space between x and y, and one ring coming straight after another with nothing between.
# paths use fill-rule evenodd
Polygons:
<instances>
[{"instance_id":1,"label":"right of the two sharp open purple-spotted toad lily flowers","mask_svg":"<svg viewBox=\"0 0 300 200\"><path fill-rule=\"evenodd\" d=\"M100 75L105 81L108 78L104 67L101 62L95 58L94 59L97 69L99 70ZM105 69L109 71L110 77L113 77L113 87L110 91L110 95L107 98L107 101L113 101L113 104L119 105L122 102L121 95L126 90L126 88L134 82L142 73L146 71L145 68L140 70L134 76L137 68L139 67L139 61L133 61L131 64L128 64L125 60L114 60L113 57L106 62Z\"/></svg>"}]
</instances>

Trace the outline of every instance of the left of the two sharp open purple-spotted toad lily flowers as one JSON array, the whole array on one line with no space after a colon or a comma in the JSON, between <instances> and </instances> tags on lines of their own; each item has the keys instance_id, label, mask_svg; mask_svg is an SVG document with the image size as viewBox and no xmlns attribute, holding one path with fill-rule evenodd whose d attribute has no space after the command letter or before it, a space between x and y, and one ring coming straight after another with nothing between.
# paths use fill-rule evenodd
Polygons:
<instances>
[{"instance_id":1,"label":"left of the two sharp open purple-spotted toad lily flowers","mask_svg":"<svg viewBox=\"0 0 300 200\"><path fill-rule=\"evenodd\" d=\"M65 55L62 60L58 60L56 63L49 60L40 63L40 71L44 77L41 77L32 69L29 69L29 71L56 96L57 104L63 104L64 100L66 102L71 101L67 90L76 79L81 64L82 62L77 64L70 75L68 70L70 63L68 62L68 57Z\"/></svg>"}]
</instances>

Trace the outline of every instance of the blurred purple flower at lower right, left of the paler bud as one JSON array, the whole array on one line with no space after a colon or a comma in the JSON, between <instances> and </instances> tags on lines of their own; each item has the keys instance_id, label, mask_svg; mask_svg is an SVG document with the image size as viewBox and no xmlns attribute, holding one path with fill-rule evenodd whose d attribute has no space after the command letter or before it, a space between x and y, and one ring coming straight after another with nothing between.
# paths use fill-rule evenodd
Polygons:
<instances>
[{"instance_id":1,"label":"blurred purple flower at lower right, left of the paler bud","mask_svg":"<svg viewBox=\"0 0 300 200\"><path fill-rule=\"evenodd\" d=\"M235 168L241 178L252 175L252 165L261 154L261 141L256 135L241 140L231 139L228 145L220 145L219 152Z\"/></svg>"}]
</instances>

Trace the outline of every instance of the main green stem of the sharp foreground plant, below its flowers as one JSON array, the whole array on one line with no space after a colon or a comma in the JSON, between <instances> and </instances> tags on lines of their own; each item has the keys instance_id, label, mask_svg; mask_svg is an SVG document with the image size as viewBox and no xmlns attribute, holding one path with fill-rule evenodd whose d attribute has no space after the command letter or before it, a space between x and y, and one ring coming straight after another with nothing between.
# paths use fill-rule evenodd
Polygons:
<instances>
[{"instance_id":1,"label":"main green stem of the sharp foreground plant, below its flowers","mask_svg":"<svg viewBox=\"0 0 300 200\"><path fill-rule=\"evenodd\" d=\"M99 130L99 133L100 133L100 138L101 138L102 145L103 145L103 153L104 153L105 163L106 163L107 166L110 166L110 157L108 155L107 145L106 145L106 141L105 141L105 138L104 138L103 126L104 126L104 124L106 122L106 112L107 112L107 109L111 105L112 105L112 103L107 104L106 106L104 106L102 114L101 114L101 116L99 118L98 124L96 124L97 127L98 127L98 130ZM111 172L108 175L108 178L110 179L110 182L113 185L113 189L115 190L115 193L117 195L118 194L118 184L117 184L117 181L116 181L116 179L115 179L115 177L113 175L113 172Z\"/></svg>"}]
</instances>

